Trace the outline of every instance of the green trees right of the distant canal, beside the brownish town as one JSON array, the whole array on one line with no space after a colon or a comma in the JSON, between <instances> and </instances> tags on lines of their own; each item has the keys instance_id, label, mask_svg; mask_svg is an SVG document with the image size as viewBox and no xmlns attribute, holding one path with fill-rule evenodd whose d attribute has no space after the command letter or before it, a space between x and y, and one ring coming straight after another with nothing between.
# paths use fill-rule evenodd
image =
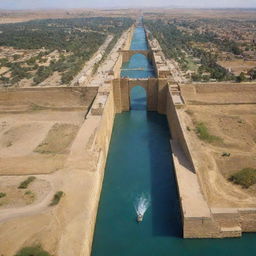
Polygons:
<instances>
[{"instance_id":1,"label":"green trees right of the distant canal, beside the brownish town","mask_svg":"<svg viewBox=\"0 0 256 256\"><path fill-rule=\"evenodd\" d=\"M210 79L216 79L217 81L227 81L235 79L228 70L217 64L216 55L194 46L194 43L215 43L225 51L238 53L239 48L234 42L220 40L214 33L210 32L199 34L194 29L195 32L189 34L179 30L177 26L191 27L191 24L186 22L170 21L166 23L161 20L146 20L145 24L160 43L167 58L175 59L185 71L195 71L192 80L209 81Z\"/></svg>"}]
</instances>

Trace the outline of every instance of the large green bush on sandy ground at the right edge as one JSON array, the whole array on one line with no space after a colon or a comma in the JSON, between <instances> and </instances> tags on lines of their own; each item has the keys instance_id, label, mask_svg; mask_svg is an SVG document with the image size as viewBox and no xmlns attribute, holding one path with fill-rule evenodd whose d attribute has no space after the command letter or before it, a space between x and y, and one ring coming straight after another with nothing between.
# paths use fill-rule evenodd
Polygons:
<instances>
[{"instance_id":1,"label":"large green bush on sandy ground at the right edge","mask_svg":"<svg viewBox=\"0 0 256 256\"><path fill-rule=\"evenodd\" d=\"M241 185L243 188L249 188L256 184L256 169L244 168L231 175L229 180L235 184Z\"/></svg>"}]
</instances>

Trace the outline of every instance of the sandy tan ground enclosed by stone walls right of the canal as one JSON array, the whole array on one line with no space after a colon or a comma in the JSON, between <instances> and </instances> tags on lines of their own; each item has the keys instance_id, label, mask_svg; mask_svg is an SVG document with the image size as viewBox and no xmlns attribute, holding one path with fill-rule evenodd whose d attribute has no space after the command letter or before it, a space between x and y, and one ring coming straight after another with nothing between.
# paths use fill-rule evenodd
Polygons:
<instances>
[{"instance_id":1,"label":"sandy tan ground enclosed by stone walls right of the canal","mask_svg":"<svg viewBox=\"0 0 256 256\"><path fill-rule=\"evenodd\" d=\"M184 94L188 105L179 112L194 149L203 191L211 207L255 207L256 185L244 189L228 181L235 172L256 167L255 91L207 93L200 88L201 92L191 96L191 101ZM204 123L209 134L219 139L200 140L196 134L199 123Z\"/></svg>"}]
</instances>

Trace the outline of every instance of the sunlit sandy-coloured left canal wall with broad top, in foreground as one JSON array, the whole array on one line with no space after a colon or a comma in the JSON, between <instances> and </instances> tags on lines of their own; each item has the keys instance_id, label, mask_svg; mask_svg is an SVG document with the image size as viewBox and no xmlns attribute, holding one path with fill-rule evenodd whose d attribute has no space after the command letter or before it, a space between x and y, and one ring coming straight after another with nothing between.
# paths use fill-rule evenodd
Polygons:
<instances>
[{"instance_id":1,"label":"sunlit sandy-coloured left canal wall with broad top, in foreground","mask_svg":"<svg viewBox=\"0 0 256 256\"><path fill-rule=\"evenodd\" d=\"M65 164L58 255L89 256L115 118L112 83L99 88ZM68 210L67 210L68 209Z\"/></svg>"}]
</instances>

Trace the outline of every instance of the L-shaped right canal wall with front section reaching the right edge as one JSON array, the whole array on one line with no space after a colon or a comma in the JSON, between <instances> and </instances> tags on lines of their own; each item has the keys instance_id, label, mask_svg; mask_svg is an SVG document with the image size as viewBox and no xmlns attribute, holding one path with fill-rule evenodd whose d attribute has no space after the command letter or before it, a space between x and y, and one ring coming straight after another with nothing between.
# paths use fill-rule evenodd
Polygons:
<instances>
[{"instance_id":1,"label":"L-shaped right canal wall with front section reaching the right edge","mask_svg":"<svg viewBox=\"0 0 256 256\"><path fill-rule=\"evenodd\" d=\"M218 89L219 85L216 87ZM242 87L236 87L235 90L239 88ZM248 86L248 91L252 89L252 86ZM183 237L240 237L242 232L255 232L255 208L211 208L208 205L199 181L197 163L184 131L186 126L179 114L183 105L177 102L182 101L177 101L177 91L173 92L169 86L166 115L172 137L172 158L180 197Z\"/></svg>"}]
</instances>

